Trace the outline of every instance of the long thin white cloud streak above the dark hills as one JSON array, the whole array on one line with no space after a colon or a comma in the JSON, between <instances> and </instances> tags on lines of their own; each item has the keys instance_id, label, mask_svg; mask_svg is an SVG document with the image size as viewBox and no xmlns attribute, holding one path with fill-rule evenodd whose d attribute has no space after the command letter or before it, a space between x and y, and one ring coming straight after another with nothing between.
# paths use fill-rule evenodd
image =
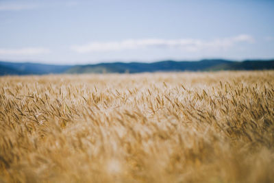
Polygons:
<instances>
[{"instance_id":1,"label":"long thin white cloud streak above the dark hills","mask_svg":"<svg viewBox=\"0 0 274 183\"><path fill-rule=\"evenodd\" d=\"M119 51L125 49L142 49L142 48L177 48L183 51L199 51L201 49L228 49L238 42L253 42L254 39L246 34L230 37L218 38L214 40L199 39L129 39L116 42L91 42L88 45L75 45L71 47L77 53L88 53L97 51Z\"/></svg>"}]
</instances>

